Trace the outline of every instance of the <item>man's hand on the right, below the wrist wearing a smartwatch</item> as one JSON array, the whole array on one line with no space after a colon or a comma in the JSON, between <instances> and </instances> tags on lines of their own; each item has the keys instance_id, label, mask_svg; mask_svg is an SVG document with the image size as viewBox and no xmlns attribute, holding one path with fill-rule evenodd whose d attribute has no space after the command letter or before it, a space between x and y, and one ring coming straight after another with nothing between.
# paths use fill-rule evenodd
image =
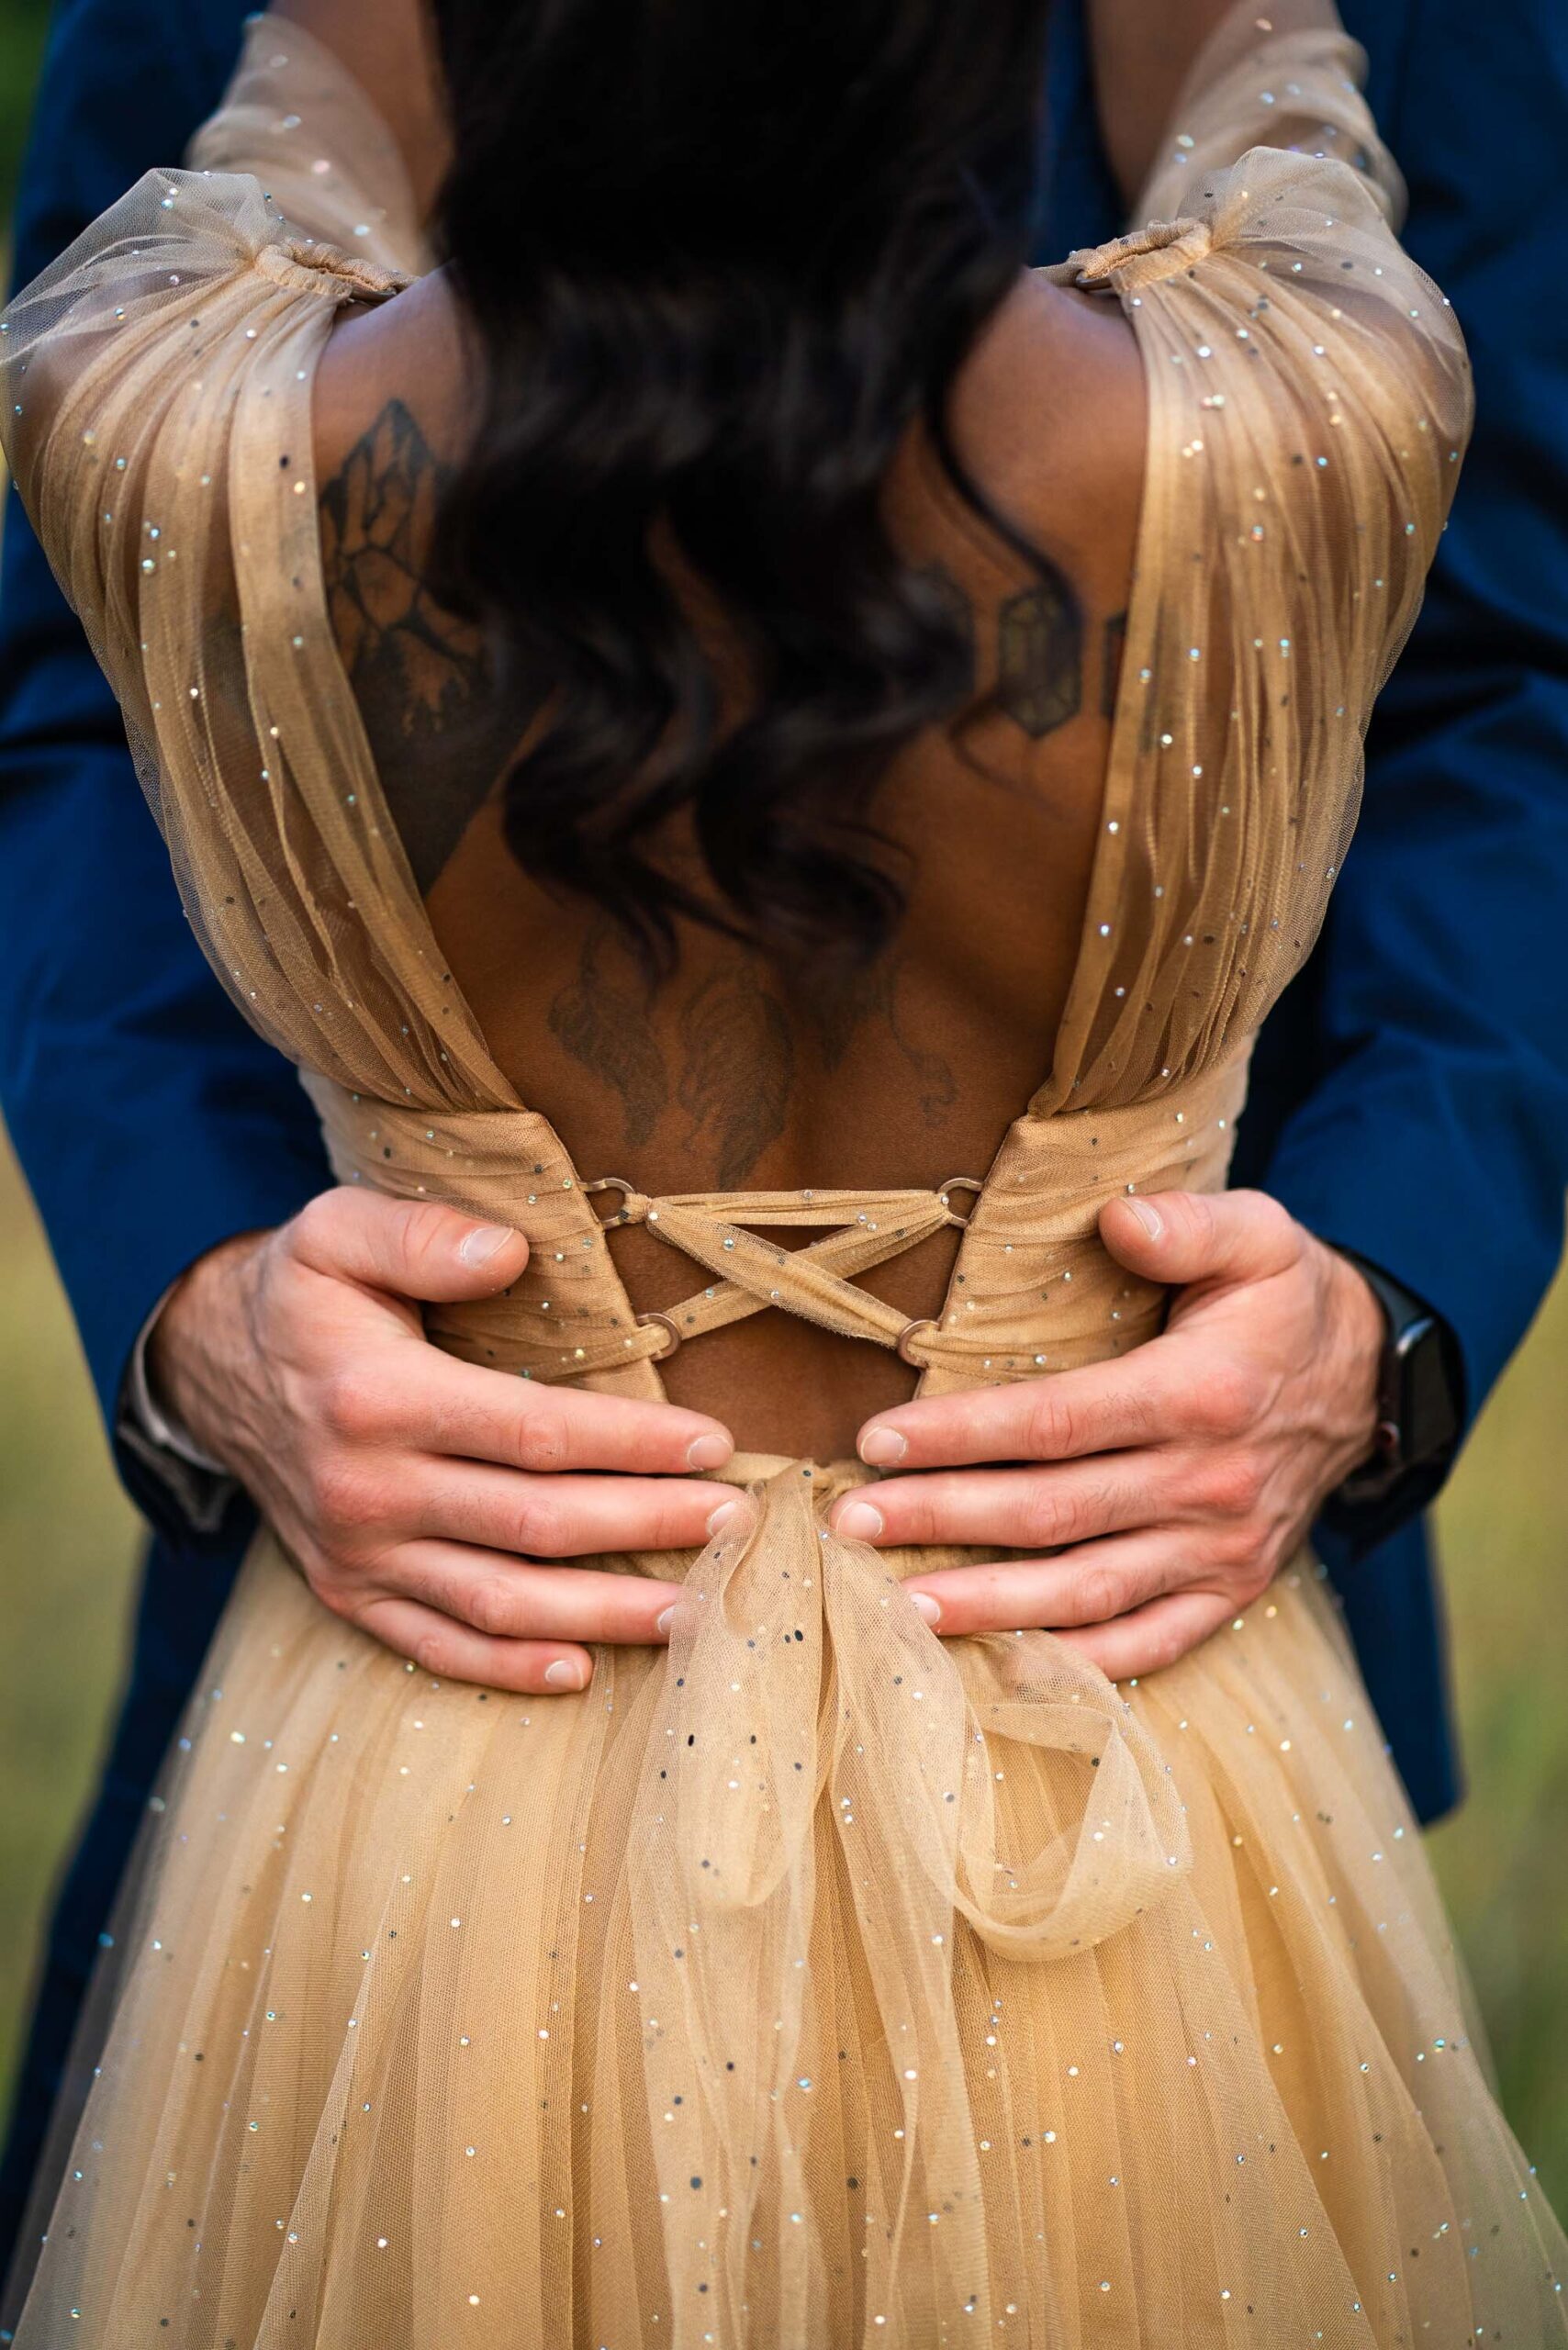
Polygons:
<instances>
[{"instance_id":1,"label":"man's hand on the right, below the wrist wearing a smartwatch","mask_svg":"<svg viewBox=\"0 0 1568 2350\"><path fill-rule=\"evenodd\" d=\"M1110 1363L877 1412L860 1459L900 1473L844 1495L832 1525L1041 1553L903 1589L943 1633L1044 1626L1128 1680L1255 1600L1366 1459L1382 1309L1262 1191L1117 1198L1100 1238L1178 1285L1164 1332Z\"/></svg>"}]
</instances>

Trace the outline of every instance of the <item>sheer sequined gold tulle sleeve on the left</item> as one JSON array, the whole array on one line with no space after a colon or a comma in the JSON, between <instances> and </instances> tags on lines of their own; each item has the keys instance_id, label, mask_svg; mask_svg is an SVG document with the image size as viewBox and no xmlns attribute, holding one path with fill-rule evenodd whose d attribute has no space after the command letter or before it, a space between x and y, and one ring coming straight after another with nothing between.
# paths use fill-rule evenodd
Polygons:
<instances>
[{"instance_id":1,"label":"sheer sequined gold tulle sleeve on the left","mask_svg":"<svg viewBox=\"0 0 1568 2350\"><path fill-rule=\"evenodd\" d=\"M482 1107L510 1093L381 801L327 623L310 456L331 320L407 282L369 254L411 235L411 207L369 101L287 33L284 54L275 24L252 28L195 150L287 179L303 219L252 169L150 172L12 306L5 449L235 1001L355 1090ZM289 148L313 96L315 136ZM273 150L303 164L273 172ZM355 221L360 251L327 240Z\"/></svg>"}]
</instances>

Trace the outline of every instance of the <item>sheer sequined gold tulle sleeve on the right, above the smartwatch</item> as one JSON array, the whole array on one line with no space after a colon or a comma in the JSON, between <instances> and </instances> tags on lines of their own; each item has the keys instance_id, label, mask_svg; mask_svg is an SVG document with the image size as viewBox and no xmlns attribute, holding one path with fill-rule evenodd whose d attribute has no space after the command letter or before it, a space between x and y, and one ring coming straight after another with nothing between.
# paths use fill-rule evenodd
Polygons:
<instances>
[{"instance_id":1,"label":"sheer sequined gold tulle sleeve on the right, above the smartwatch","mask_svg":"<svg viewBox=\"0 0 1568 2350\"><path fill-rule=\"evenodd\" d=\"M1338 31L1260 40L1244 0L1150 181L1166 219L1053 270L1121 301L1150 425L1105 827L1041 1109L1138 1100L1239 1050L1354 830L1472 411L1453 310L1392 228L1403 190L1359 56Z\"/></svg>"}]
</instances>

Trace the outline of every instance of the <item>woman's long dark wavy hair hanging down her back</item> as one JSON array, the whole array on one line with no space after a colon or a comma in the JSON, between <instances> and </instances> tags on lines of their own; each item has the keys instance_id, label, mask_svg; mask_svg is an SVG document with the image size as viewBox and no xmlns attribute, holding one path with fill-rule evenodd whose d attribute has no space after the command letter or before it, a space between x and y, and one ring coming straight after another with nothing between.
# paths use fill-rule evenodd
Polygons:
<instances>
[{"instance_id":1,"label":"woman's long dark wavy hair hanging down her back","mask_svg":"<svg viewBox=\"0 0 1568 2350\"><path fill-rule=\"evenodd\" d=\"M480 421L435 588L543 717L505 837L656 968L686 914L870 959L877 783L973 700L971 620L882 494L1027 258L1046 0L433 0L440 237ZM724 717L675 578L748 672ZM689 811L698 888L658 855ZM668 832L665 832L668 841ZM708 886L701 886L701 884Z\"/></svg>"}]
</instances>

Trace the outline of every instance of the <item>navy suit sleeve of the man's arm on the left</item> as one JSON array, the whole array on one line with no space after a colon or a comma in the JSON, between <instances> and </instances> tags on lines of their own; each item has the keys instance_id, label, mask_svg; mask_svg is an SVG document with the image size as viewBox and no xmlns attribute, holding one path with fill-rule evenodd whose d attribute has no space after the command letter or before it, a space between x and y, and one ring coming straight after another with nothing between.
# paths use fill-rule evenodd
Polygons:
<instances>
[{"instance_id":1,"label":"navy suit sleeve of the man's arm on the left","mask_svg":"<svg viewBox=\"0 0 1568 2350\"><path fill-rule=\"evenodd\" d=\"M56 9L19 282L148 164L181 155L240 24L233 0ZM331 1177L294 1069L190 935L115 700L14 496L0 557L0 1104L113 1431L136 1332L176 1274ZM165 1516L158 1478L125 1452L120 1466Z\"/></svg>"}]
</instances>

